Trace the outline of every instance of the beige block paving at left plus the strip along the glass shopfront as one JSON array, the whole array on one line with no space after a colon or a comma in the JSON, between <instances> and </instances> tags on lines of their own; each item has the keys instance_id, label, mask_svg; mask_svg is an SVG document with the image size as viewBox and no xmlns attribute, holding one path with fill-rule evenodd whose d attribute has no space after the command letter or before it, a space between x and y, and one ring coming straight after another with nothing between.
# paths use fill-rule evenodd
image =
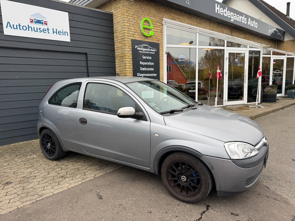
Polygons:
<instances>
[{"instance_id":1,"label":"beige block paving at left plus the strip along the glass shopfront","mask_svg":"<svg viewBox=\"0 0 295 221\"><path fill-rule=\"evenodd\" d=\"M232 111L254 119L294 104L295 99L282 98L276 103L262 103L263 108L248 105L246 110ZM41 152L38 139L0 146L0 215L121 166L72 152L50 161Z\"/></svg>"}]
</instances>

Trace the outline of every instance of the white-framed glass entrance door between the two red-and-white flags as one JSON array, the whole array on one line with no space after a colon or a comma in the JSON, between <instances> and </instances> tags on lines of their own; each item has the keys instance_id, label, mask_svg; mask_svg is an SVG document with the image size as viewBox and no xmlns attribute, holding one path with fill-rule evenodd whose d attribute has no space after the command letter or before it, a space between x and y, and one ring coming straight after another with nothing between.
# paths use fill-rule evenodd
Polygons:
<instances>
[{"instance_id":1,"label":"white-framed glass entrance door between the two red-and-white flags","mask_svg":"<svg viewBox=\"0 0 295 221\"><path fill-rule=\"evenodd\" d=\"M244 83L246 73L246 52L227 51L225 76L225 105L244 104Z\"/></svg>"}]
</instances>

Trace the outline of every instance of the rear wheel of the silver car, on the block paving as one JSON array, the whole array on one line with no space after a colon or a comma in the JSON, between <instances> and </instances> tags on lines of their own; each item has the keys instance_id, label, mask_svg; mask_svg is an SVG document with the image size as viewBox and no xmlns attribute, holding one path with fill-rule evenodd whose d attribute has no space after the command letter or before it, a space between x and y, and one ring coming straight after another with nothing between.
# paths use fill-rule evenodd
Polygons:
<instances>
[{"instance_id":1,"label":"rear wheel of the silver car, on the block paving","mask_svg":"<svg viewBox=\"0 0 295 221\"><path fill-rule=\"evenodd\" d=\"M49 160L54 161L65 156L65 151L51 130L45 129L41 132L40 147L44 156Z\"/></svg>"}]
</instances>

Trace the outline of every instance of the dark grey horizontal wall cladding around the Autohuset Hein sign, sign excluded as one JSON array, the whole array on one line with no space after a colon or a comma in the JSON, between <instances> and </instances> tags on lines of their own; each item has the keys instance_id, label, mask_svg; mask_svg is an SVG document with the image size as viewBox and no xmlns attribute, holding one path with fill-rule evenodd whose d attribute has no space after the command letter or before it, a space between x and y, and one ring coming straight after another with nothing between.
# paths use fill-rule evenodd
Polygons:
<instances>
[{"instance_id":1,"label":"dark grey horizontal wall cladding around the Autohuset Hein sign, sign excluded","mask_svg":"<svg viewBox=\"0 0 295 221\"><path fill-rule=\"evenodd\" d=\"M0 16L0 146L37 138L38 105L56 81L116 75L112 13L50 0L12 1L68 12L71 41L4 35Z\"/></svg>"}]
</instances>

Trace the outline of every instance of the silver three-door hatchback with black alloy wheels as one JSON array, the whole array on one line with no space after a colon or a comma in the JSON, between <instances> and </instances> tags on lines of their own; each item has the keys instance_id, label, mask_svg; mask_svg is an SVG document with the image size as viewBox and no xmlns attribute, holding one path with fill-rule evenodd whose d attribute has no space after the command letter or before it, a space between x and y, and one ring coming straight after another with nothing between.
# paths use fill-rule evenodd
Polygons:
<instances>
[{"instance_id":1,"label":"silver three-door hatchback with black alloy wheels","mask_svg":"<svg viewBox=\"0 0 295 221\"><path fill-rule=\"evenodd\" d=\"M203 200L212 186L218 196L247 190L267 161L256 122L154 79L62 80L39 112L40 146L49 160L74 151L160 174L171 195L187 203Z\"/></svg>"}]
</instances>

